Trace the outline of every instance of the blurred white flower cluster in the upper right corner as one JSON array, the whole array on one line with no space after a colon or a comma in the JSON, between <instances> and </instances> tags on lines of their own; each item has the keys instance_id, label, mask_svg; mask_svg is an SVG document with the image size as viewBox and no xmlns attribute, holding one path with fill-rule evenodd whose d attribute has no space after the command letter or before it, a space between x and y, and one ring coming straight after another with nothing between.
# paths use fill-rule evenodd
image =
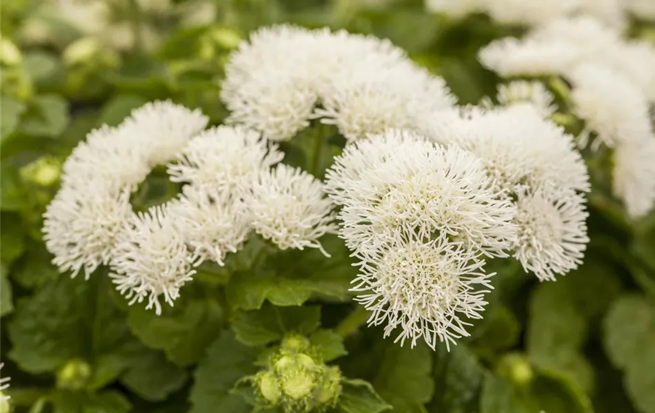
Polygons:
<instances>
[{"instance_id":1,"label":"blurred white flower cluster in the upper right corner","mask_svg":"<svg viewBox=\"0 0 655 413\"><path fill-rule=\"evenodd\" d=\"M572 86L572 112L585 121L580 145L614 150L614 195L633 218L655 206L655 47L623 39L621 32L592 17L555 19L523 39L492 42L479 54L501 76L563 76ZM537 107L549 99L531 96ZM498 100L501 100L500 96ZM547 105L548 111L552 107ZM545 114L547 112L544 112Z\"/></svg>"}]
</instances>

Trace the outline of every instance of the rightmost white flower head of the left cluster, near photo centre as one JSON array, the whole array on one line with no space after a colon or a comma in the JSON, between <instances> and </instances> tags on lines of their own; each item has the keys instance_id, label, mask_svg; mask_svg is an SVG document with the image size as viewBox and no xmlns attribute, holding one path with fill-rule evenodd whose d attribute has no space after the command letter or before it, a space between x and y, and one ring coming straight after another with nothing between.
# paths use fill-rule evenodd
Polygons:
<instances>
[{"instance_id":1,"label":"rightmost white flower head of the left cluster, near photo centre","mask_svg":"<svg viewBox=\"0 0 655 413\"><path fill-rule=\"evenodd\" d=\"M332 202L309 173L288 165L262 172L246 199L252 228L280 249L319 248L319 238L334 233Z\"/></svg>"}]
</instances>

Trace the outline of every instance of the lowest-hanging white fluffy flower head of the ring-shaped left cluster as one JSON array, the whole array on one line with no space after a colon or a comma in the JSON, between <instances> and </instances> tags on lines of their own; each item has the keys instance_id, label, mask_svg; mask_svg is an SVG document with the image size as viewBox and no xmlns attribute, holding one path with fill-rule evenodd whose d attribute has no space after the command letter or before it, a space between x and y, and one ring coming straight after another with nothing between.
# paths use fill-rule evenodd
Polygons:
<instances>
[{"instance_id":1,"label":"lowest-hanging white fluffy flower head of the ring-shaped left cluster","mask_svg":"<svg viewBox=\"0 0 655 413\"><path fill-rule=\"evenodd\" d=\"M112 282L130 305L143 302L161 314L159 295L173 305L179 290L192 279L192 256L177 218L166 207L133 215L117 240L110 262Z\"/></svg>"}]
</instances>

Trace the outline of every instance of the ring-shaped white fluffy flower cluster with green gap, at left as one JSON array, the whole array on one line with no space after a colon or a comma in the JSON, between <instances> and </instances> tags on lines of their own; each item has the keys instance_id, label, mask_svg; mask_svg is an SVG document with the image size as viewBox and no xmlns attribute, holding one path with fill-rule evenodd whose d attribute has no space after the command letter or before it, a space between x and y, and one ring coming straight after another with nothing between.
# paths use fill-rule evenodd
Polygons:
<instances>
[{"instance_id":1,"label":"ring-shaped white fluffy flower cluster with green gap, at left","mask_svg":"<svg viewBox=\"0 0 655 413\"><path fill-rule=\"evenodd\" d=\"M204 130L208 118L170 101L136 109L101 127L63 165L61 189L44 214L46 247L60 271L85 277L110 267L130 304L173 305L204 260L223 265L254 229L280 248L321 248L335 231L322 184L280 162L276 145L240 127ZM167 166L182 193L145 213L130 194Z\"/></svg>"}]
</instances>

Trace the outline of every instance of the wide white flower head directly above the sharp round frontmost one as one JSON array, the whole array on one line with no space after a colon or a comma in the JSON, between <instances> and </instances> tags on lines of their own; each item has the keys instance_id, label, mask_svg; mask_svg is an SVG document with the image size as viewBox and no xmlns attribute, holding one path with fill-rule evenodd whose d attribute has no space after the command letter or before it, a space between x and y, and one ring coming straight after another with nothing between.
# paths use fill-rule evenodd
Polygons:
<instances>
[{"instance_id":1,"label":"wide white flower head directly above the sharp round frontmost one","mask_svg":"<svg viewBox=\"0 0 655 413\"><path fill-rule=\"evenodd\" d=\"M385 151L386 159L363 169L361 159L371 147ZM341 237L363 255L403 235L430 240L445 234L475 251L502 257L514 241L514 207L491 185L471 153L392 130L336 158L326 191L343 205Z\"/></svg>"}]
</instances>

